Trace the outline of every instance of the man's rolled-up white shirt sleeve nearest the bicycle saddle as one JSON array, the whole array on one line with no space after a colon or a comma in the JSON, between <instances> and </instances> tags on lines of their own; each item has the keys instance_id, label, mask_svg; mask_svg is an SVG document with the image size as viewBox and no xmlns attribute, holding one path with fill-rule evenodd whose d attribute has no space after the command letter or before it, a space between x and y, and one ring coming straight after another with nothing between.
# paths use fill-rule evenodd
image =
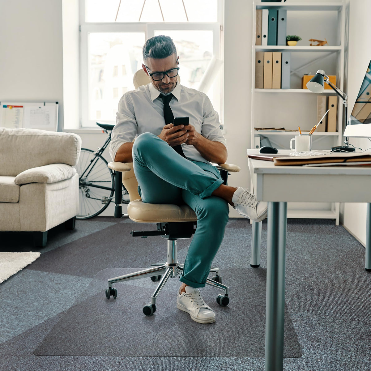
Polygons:
<instances>
[{"instance_id":1,"label":"man's rolled-up white shirt sleeve nearest the bicycle saddle","mask_svg":"<svg viewBox=\"0 0 371 371\"><path fill-rule=\"evenodd\" d=\"M115 161L116 152L124 143L133 141L138 133L138 124L135 120L134 106L129 93L125 93L118 102L116 125L112 130L109 154Z\"/></svg>"}]
</instances>

